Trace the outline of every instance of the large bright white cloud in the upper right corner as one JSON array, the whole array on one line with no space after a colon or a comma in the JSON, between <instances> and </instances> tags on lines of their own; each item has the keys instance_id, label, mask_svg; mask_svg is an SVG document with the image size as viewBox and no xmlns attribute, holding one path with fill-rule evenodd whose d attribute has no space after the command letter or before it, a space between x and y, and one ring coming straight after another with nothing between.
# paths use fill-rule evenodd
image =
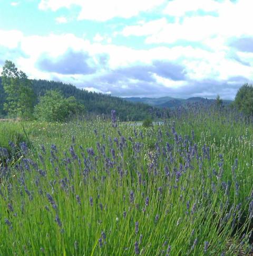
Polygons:
<instances>
[{"instance_id":1,"label":"large bright white cloud in the upper right corner","mask_svg":"<svg viewBox=\"0 0 253 256\"><path fill-rule=\"evenodd\" d=\"M217 2L214 0L174 0L170 1L164 13L182 17L176 22L168 22L165 18L133 26L125 26L121 32L124 36L147 36L146 43L174 43L178 40L204 42L213 48L220 48L219 42L225 42L229 37L242 35L253 36L251 23L251 2L239 0L232 3L229 0ZM216 11L217 16L184 16L188 11ZM218 38L218 40L217 40ZM215 40L214 40L215 39Z\"/></svg>"}]
</instances>

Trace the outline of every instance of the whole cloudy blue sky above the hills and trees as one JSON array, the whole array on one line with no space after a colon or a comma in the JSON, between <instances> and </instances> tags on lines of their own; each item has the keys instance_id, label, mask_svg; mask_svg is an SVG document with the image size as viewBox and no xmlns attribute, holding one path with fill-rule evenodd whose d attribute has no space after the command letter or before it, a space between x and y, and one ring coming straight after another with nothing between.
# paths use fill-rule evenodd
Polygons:
<instances>
[{"instance_id":1,"label":"whole cloudy blue sky above the hills and trees","mask_svg":"<svg viewBox=\"0 0 253 256\"><path fill-rule=\"evenodd\" d=\"M233 99L253 79L251 0L0 0L0 71L120 97Z\"/></svg>"}]
</instances>

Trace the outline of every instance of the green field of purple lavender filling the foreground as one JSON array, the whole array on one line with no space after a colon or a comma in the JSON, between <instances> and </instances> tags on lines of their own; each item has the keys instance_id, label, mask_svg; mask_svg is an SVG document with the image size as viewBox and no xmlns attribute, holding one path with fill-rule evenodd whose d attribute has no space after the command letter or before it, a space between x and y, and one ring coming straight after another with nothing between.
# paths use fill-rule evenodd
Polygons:
<instances>
[{"instance_id":1,"label":"green field of purple lavender filling the foreground","mask_svg":"<svg viewBox=\"0 0 253 256\"><path fill-rule=\"evenodd\" d=\"M116 124L0 123L1 255L251 253L250 120L192 107Z\"/></svg>"}]
</instances>

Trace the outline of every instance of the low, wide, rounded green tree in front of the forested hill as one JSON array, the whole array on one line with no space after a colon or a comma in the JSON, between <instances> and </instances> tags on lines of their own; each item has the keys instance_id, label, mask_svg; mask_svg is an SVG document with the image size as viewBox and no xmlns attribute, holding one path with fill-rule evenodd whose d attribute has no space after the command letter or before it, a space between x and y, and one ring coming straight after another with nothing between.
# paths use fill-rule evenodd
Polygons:
<instances>
[{"instance_id":1,"label":"low, wide, rounded green tree in front of the forested hill","mask_svg":"<svg viewBox=\"0 0 253 256\"><path fill-rule=\"evenodd\" d=\"M84 113L84 106L75 97L64 98L57 90L48 90L35 106L35 117L41 121L63 122Z\"/></svg>"}]
</instances>

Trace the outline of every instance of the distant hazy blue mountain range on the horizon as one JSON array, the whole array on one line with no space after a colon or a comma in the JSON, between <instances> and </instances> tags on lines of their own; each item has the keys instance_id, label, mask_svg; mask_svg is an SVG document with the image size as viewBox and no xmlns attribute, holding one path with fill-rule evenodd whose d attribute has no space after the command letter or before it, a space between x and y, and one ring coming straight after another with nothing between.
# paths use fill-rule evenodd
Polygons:
<instances>
[{"instance_id":1,"label":"distant hazy blue mountain range on the horizon","mask_svg":"<svg viewBox=\"0 0 253 256\"><path fill-rule=\"evenodd\" d=\"M215 99L207 99L202 97L191 97L188 99L180 99L180 98L172 98L172 97L160 97L160 98L139 98L139 97L128 97L124 98L125 100L129 102L141 102L148 104L150 106L155 107L169 107L169 108L175 108L178 106L183 106L188 103L213 103L215 102ZM228 105L232 102L232 100L223 100L223 103L225 105Z\"/></svg>"}]
</instances>

